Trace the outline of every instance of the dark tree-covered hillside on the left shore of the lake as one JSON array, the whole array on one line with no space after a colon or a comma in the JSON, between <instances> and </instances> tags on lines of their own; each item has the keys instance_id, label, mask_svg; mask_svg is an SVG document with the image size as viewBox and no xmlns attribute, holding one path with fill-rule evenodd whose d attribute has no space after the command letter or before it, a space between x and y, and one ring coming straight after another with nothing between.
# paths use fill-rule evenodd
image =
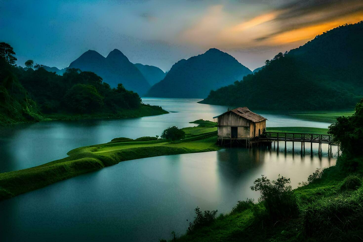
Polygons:
<instances>
[{"instance_id":1,"label":"dark tree-covered hillside on the left shore of the lake","mask_svg":"<svg viewBox=\"0 0 363 242\"><path fill-rule=\"evenodd\" d=\"M161 107L143 104L137 93L121 83L111 88L93 72L68 68L57 75L40 65L36 70L30 68L32 64L28 66L16 66L4 55L0 58L0 125L44 117L118 118L167 113Z\"/></svg>"}]
</instances>

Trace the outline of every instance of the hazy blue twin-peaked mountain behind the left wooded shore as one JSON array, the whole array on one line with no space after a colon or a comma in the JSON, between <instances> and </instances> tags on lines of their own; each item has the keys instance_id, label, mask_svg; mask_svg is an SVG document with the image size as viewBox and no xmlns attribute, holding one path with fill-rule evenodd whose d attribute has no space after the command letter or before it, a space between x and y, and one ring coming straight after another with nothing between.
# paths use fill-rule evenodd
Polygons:
<instances>
[{"instance_id":1,"label":"hazy blue twin-peaked mountain behind the left wooded shore","mask_svg":"<svg viewBox=\"0 0 363 242\"><path fill-rule=\"evenodd\" d=\"M111 51L106 58L94 50L88 50L70 63L68 68L92 71L111 87L117 87L118 83L122 83L127 90L140 95L145 94L150 88L139 69L118 49Z\"/></svg>"}]
</instances>

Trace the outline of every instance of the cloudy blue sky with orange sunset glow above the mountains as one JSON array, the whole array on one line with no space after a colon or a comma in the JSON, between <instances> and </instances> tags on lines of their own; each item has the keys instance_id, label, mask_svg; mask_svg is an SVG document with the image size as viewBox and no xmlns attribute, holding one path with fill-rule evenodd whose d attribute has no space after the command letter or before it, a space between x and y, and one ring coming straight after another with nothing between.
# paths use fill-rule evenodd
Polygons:
<instances>
[{"instance_id":1,"label":"cloudy blue sky with orange sunset glow above the mountains","mask_svg":"<svg viewBox=\"0 0 363 242\"><path fill-rule=\"evenodd\" d=\"M363 20L362 0L0 0L0 42L24 66L59 69L87 50L119 49L167 71L217 48L253 70L278 52Z\"/></svg>"}]
</instances>

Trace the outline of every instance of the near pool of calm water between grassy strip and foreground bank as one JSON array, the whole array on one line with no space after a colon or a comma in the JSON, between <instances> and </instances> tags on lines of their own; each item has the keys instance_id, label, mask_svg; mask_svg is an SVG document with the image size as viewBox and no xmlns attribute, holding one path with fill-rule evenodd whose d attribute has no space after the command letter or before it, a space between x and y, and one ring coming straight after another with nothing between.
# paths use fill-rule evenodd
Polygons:
<instances>
[{"instance_id":1,"label":"near pool of calm water between grassy strip and foreground bank","mask_svg":"<svg viewBox=\"0 0 363 242\"><path fill-rule=\"evenodd\" d=\"M0 202L1 234L4 241L169 238L170 231L184 233L196 206L225 213L238 200L257 200L249 187L261 175L290 177L296 188L316 168L335 164L327 152L321 159L298 150L293 156L291 146L286 154L282 141L279 153L273 147L225 148L124 161Z\"/></svg>"}]
</instances>

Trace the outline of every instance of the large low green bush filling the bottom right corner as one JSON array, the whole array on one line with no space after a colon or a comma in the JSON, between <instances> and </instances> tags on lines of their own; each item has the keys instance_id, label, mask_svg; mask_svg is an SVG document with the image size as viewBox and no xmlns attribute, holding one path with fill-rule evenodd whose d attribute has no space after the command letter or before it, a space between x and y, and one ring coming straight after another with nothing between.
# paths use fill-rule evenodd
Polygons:
<instances>
[{"instance_id":1,"label":"large low green bush filling the bottom right corner","mask_svg":"<svg viewBox=\"0 0 363 242\"><path fill-rule=\"evenodd\" d=\"M303 216L306 234L323 241L356 241L363 230L362 196L359 189L310 204Z\"/></svg>"}]
</instances>

